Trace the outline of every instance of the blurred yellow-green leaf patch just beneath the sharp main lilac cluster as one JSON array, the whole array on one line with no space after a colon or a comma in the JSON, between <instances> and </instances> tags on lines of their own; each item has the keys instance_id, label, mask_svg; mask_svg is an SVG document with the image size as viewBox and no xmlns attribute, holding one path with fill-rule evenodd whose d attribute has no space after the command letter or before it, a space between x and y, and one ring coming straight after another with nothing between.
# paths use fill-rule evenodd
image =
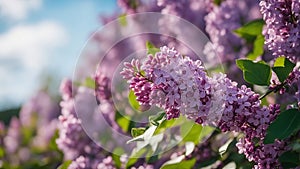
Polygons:
<instances>
[{"instance_id":1,"label":"blurred yellow-green leaf patch just beneath the sharp main lilac cluster","mask_svg":"<svg viewBox=\"0 0 300 169\"><path fill-rule=\"evenodd\" d=\"M202 126L193 121L188 121L180 127L181 137L185 142L198 144L202 133Z\"/></svg>"}]
</instances>

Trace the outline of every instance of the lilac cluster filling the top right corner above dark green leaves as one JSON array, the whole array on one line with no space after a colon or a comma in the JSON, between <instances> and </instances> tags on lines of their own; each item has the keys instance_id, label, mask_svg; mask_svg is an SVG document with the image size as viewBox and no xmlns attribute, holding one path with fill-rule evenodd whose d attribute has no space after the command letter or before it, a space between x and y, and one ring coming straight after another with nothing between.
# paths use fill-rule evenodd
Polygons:
<instances>
[{"instance_id":1,"label":"lilac cluster filling the top right corner above dark green leaves","mask_svg":"<svg viewBox=\"0 0 300 169\"><path fill-rule=\"evenodd\" d=\"M266 22L265 44L275 57L297 59L300 55L300 1L262 0L259 3Z\"/></svg>"}]
</instances>

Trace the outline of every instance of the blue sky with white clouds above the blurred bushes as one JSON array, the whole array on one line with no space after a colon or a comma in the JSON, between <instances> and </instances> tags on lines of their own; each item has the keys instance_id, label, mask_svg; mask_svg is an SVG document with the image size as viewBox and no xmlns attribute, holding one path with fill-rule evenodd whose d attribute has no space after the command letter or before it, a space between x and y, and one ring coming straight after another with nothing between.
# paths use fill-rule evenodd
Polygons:
<instances>
[{"instance_id":1,"label":"blue sky with white clouds above the blurred bushes","mask_svg":"<svg viewBox=\"0 0 300 169\"><path fill-rule=\"evenodd\" d=\"M20 105L45 75L71 77L114 0L0 0L0 109Z\"/></svg>"}]
</instances>

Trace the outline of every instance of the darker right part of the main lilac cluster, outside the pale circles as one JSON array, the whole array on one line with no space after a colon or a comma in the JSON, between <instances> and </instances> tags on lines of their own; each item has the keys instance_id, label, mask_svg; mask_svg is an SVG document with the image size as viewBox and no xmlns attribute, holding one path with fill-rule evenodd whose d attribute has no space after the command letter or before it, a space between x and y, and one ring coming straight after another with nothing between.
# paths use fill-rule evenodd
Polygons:
<instances>
[{"instance_id":1,"label":"darker right part of the main lilac cluster, outside the pale circles","mask_svg":"<svg viewBox=\"0 0 300 169\"><path fill-rule=\"evenodd\" d=\"M277 142L275 145L265 145L263 140L270 123L279 114L279 105L260 107L259 96L250 88L237 87L223 76L218 82L225 84L223 87L223 101L225 108L219 122L219 128L226 131L243 132L244 138L237 143L239 153L246 155L249 161L255 161L259 168L272 168L279 166L278 157L284 151L284 142ZM225 97L224 97L225 94ZM221 96L222 96L221 95ZM256 147L255 139L258 139L259 147Z\"/></svg>"}]
</instances>

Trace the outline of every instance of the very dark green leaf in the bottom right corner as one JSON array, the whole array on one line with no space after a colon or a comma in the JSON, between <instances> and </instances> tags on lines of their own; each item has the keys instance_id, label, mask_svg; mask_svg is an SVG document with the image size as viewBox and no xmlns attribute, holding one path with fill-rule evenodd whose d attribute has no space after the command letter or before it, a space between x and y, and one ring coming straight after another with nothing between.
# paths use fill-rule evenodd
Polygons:
<instances>
[{"instance_id":1,"label":"very dark green leaf in the bottom right corner","mask_svg":"<svg viewBox=\"0 0 300 169\"><path fill-rule=\"evenodd\" d=\"M279 157L279 162L285 168L294 168L300 165L300 156L296 152L287 151Z\"/></svg>"}]
</instances>

